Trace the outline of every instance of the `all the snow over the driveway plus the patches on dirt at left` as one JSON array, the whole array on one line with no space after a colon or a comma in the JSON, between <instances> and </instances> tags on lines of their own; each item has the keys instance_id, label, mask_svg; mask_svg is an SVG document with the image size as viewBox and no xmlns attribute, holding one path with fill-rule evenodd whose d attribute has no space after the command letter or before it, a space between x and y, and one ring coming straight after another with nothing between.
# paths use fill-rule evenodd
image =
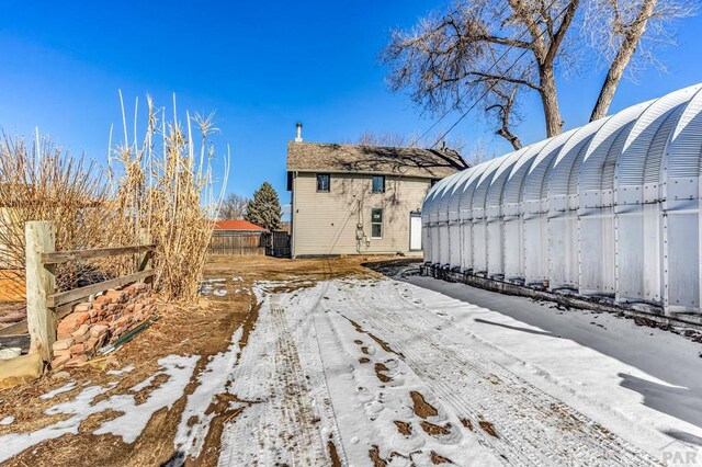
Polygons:
<instances>
[{"instance_id":1,"label":"all the snow over the driveway plus the patches on dirt at left","mask_svg":"<svg viewBox=\"0 0 702 467\"><path fill-rule=\"evenodd\" d=\"M184 398L174 451L196 458L224 410L222 466L702 465L702 345L612 315L397 277L258 283L258 319L226 351L201 366L168 356L129 394L99 401L117 380L47 392L72 394L46 411L68 418L0 436L0 462L107 409L122 415L92 433L134 442Z\"/></svg>"}]
</instances>

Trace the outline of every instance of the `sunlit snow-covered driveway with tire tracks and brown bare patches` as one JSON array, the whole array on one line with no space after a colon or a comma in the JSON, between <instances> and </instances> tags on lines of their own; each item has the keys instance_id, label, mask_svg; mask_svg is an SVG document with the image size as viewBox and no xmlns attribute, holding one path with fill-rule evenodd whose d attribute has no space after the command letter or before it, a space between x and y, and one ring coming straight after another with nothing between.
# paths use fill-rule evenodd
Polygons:
<instances>
[{"instance_id":1,"label":"sunlit snow-covered driveway with tire tracks and brown bare patches","mask_svg":"<svg viewBox=\"0 0 702 467\"><path fill-rule=\"evenodd\" d=\"M259 321L230 388L241 412L224 430L220 465L672 465L678 454L700 458L694 441L702 429L690 423L693 415L657 410L642 395L657 388L649 397L669 408L677 403L671 395L689 387L499 307L393 280L276 289L257 291ZM699 345L682 338L603 318L607 330L588 324L600 339L643 348L670 338L669 366L678 353L697 357Z\"/></svg>"}]
</instances>

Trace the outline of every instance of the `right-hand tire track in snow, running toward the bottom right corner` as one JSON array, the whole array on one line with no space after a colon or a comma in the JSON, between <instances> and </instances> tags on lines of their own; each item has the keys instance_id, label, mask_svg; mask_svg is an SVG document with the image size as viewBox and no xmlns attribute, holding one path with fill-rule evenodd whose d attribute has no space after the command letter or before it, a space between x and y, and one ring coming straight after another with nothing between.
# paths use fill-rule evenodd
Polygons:
<instances>
[{"instance_id":1,"label":"right-hand tire track in snow, running toward the bottom right corner","mask_svg":"<svg viewBox=\"0 0 702 467\"><path fill-rule=\"evenodd\" d=\"M374 328L434 392L479 426L491 422L499 437L476 430L508 462L530 465L655 465L657 460L501 365L434 330L417 304L389 281L376 287L344 287L333 308ZM337 287L338 288L338 287ZM360 294L359 291L363 291ZM383 308L369 294L385 298ZM437 364L442 362L442 364Z\"/></svg>"}]
</instances>

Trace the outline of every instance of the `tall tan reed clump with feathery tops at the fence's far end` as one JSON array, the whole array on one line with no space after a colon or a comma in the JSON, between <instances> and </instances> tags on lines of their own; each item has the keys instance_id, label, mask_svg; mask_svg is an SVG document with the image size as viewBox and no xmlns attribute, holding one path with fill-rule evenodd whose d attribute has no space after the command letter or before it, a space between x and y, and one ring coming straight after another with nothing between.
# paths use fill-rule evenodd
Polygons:
<instances>
[{"instance_id":1,"label":"tall tan reed clump with feathery tops at the fence's far end","mask_svg":"<svg viewBox=\"0 0 702 467\"><path fill-rule=\"evenodd\" d=\"M137 112L138 101L135 122ZM123 105L124 141L111 152L111 186L120 209L129 219L125 234L134 237L145 227L156 243L157 288L167 298L191 300L197 293L214 219L222 205L229 156L227 152L220 191L215 196L215 149L210 136L217 128L212 115L191 118L186 113L181 123L176 102L169 119L165 109L156 109L151 99L147 99L147 112L144 138L137 139L135 124L129 143Z\"/></svg>"}]
</instances>

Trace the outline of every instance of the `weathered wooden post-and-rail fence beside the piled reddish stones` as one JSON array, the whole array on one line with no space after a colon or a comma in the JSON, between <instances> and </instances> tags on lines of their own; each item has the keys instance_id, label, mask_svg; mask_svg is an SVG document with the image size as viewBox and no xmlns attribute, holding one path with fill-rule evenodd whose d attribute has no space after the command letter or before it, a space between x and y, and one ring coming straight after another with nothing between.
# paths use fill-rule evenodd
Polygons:
<instances>
[{"instance_id":1,"label":"weathered wooden post-and-rail fence beside the piled reddish stones","mask_svg":"<svg viewBox=\"0 0 702 467\"><path fill-rule=\"evenodd\" d=\"M129 247L100 248L92 250L56 251L56 226L46 220L26 223L26 320L31 344L30 353L38 353L42 360L50 362L52 345L56 341L58 310L70 312L73 305L91 295L110 288L144 281L154 275L151 260L154 244L147 231L141 231L141 244ZM56 264L76 260L139 254L139 269L134 274L112 278L98 284L56 292Z\"/></svg>"}]
</instances>

